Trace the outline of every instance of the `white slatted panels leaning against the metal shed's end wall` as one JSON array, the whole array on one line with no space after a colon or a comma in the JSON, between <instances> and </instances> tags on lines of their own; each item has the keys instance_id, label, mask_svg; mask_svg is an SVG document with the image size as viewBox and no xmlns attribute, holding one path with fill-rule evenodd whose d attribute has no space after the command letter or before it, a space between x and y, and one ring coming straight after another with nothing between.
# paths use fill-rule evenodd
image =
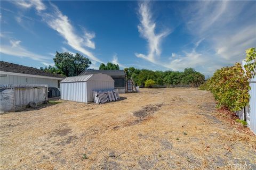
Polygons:
<instances>
[{"instance_id":1,"label":"white slatted panels leaning against the metal shed's end wall","mask_svg":"<svg viewBox=\"0 0 256 170\"><path fill-rule=\"evenodd\" d=\"M120 99L117 89L114 90L93 90L94 103L104 104L109 101L116 101Z\"/></svg>"}]
</instances>

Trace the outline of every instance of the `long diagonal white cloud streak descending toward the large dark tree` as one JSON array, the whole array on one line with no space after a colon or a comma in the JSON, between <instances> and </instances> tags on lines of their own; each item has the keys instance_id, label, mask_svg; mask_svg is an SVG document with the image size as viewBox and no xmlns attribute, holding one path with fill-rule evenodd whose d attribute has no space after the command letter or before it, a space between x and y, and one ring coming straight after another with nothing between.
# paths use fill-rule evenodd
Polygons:
<instances>
[{"instance_id":1,"label":"long diagonal white cloud streak descending toward the large dark tree","mask_svg":"<svg viewBox=\"0 0 256 170\"><path fill-rule=\"evenodd\" d=\"M46 12L46 6L42 1L20 1L15 2L16 5L23 8L35 7L37 14L42 16L42 19L50 28L57 31L61 37L63 37L67 44L78 52L83 53L91 60L101 62L99 58L95 57L87 48L95 49L95 44L92 39L95 37L95 33L88 32L85 29L84 35L80 36L76 33L75 28L71 24L67 15L62 14L57 6L50 3L48 6L48 12ZM86 48L87 47L87 48Z\"/></svg>"}]
</instances>

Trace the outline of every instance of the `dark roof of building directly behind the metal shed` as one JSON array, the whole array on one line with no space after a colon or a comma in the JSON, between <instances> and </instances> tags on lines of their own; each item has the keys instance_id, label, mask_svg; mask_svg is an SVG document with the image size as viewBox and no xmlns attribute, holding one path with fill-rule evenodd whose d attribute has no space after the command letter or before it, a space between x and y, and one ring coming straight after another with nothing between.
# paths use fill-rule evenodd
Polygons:
<instances>
[{"instance_id":1,"label":"dark roof of building directly behind the metal shed","mask_svg":"<svg viewBox=\"0 0 256 170\"><path fill-rule=\"evenodd\" d=\"M88 75L88 74L108 74L110 76L125 76L124 70L84 70L79 75Z\"/></svg>"}]
</instances>

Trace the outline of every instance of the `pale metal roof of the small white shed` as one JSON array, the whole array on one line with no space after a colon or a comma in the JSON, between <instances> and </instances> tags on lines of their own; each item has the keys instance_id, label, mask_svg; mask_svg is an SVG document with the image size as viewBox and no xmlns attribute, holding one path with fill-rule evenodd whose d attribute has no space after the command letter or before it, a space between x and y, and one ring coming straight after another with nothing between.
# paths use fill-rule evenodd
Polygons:
<instances>
[{"instance_id":1,"label":"pale metal roof of the small white shed","mask_svg":"<svg viewBox=\"0 0 256 170\"><path fill-rule=\"evenodd\" d=\"M114 81L114 80L107 74L99 73L99 74L77 75L74 77L68 77L63 79L60 83L85 82L85 81Z\"/></svg>"}]
</instances>

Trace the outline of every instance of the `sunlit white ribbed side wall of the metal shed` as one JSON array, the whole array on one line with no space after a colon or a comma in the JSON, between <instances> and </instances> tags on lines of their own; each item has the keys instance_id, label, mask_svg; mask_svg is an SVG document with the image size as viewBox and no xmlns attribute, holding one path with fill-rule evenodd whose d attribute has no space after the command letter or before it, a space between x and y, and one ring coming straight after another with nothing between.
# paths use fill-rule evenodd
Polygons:
<instances>
[{"instance_id":1,"label":"sunlit white ribbed side wall of the metal shed","mask_svg":"<svg viewBox=\"0 0 256 170\"><path fill-rule=\"evenodd\" d=\"M87 103L86 82L67 82L60 84L62 100L78 101Z\"/></svg>"}]
</instances>

